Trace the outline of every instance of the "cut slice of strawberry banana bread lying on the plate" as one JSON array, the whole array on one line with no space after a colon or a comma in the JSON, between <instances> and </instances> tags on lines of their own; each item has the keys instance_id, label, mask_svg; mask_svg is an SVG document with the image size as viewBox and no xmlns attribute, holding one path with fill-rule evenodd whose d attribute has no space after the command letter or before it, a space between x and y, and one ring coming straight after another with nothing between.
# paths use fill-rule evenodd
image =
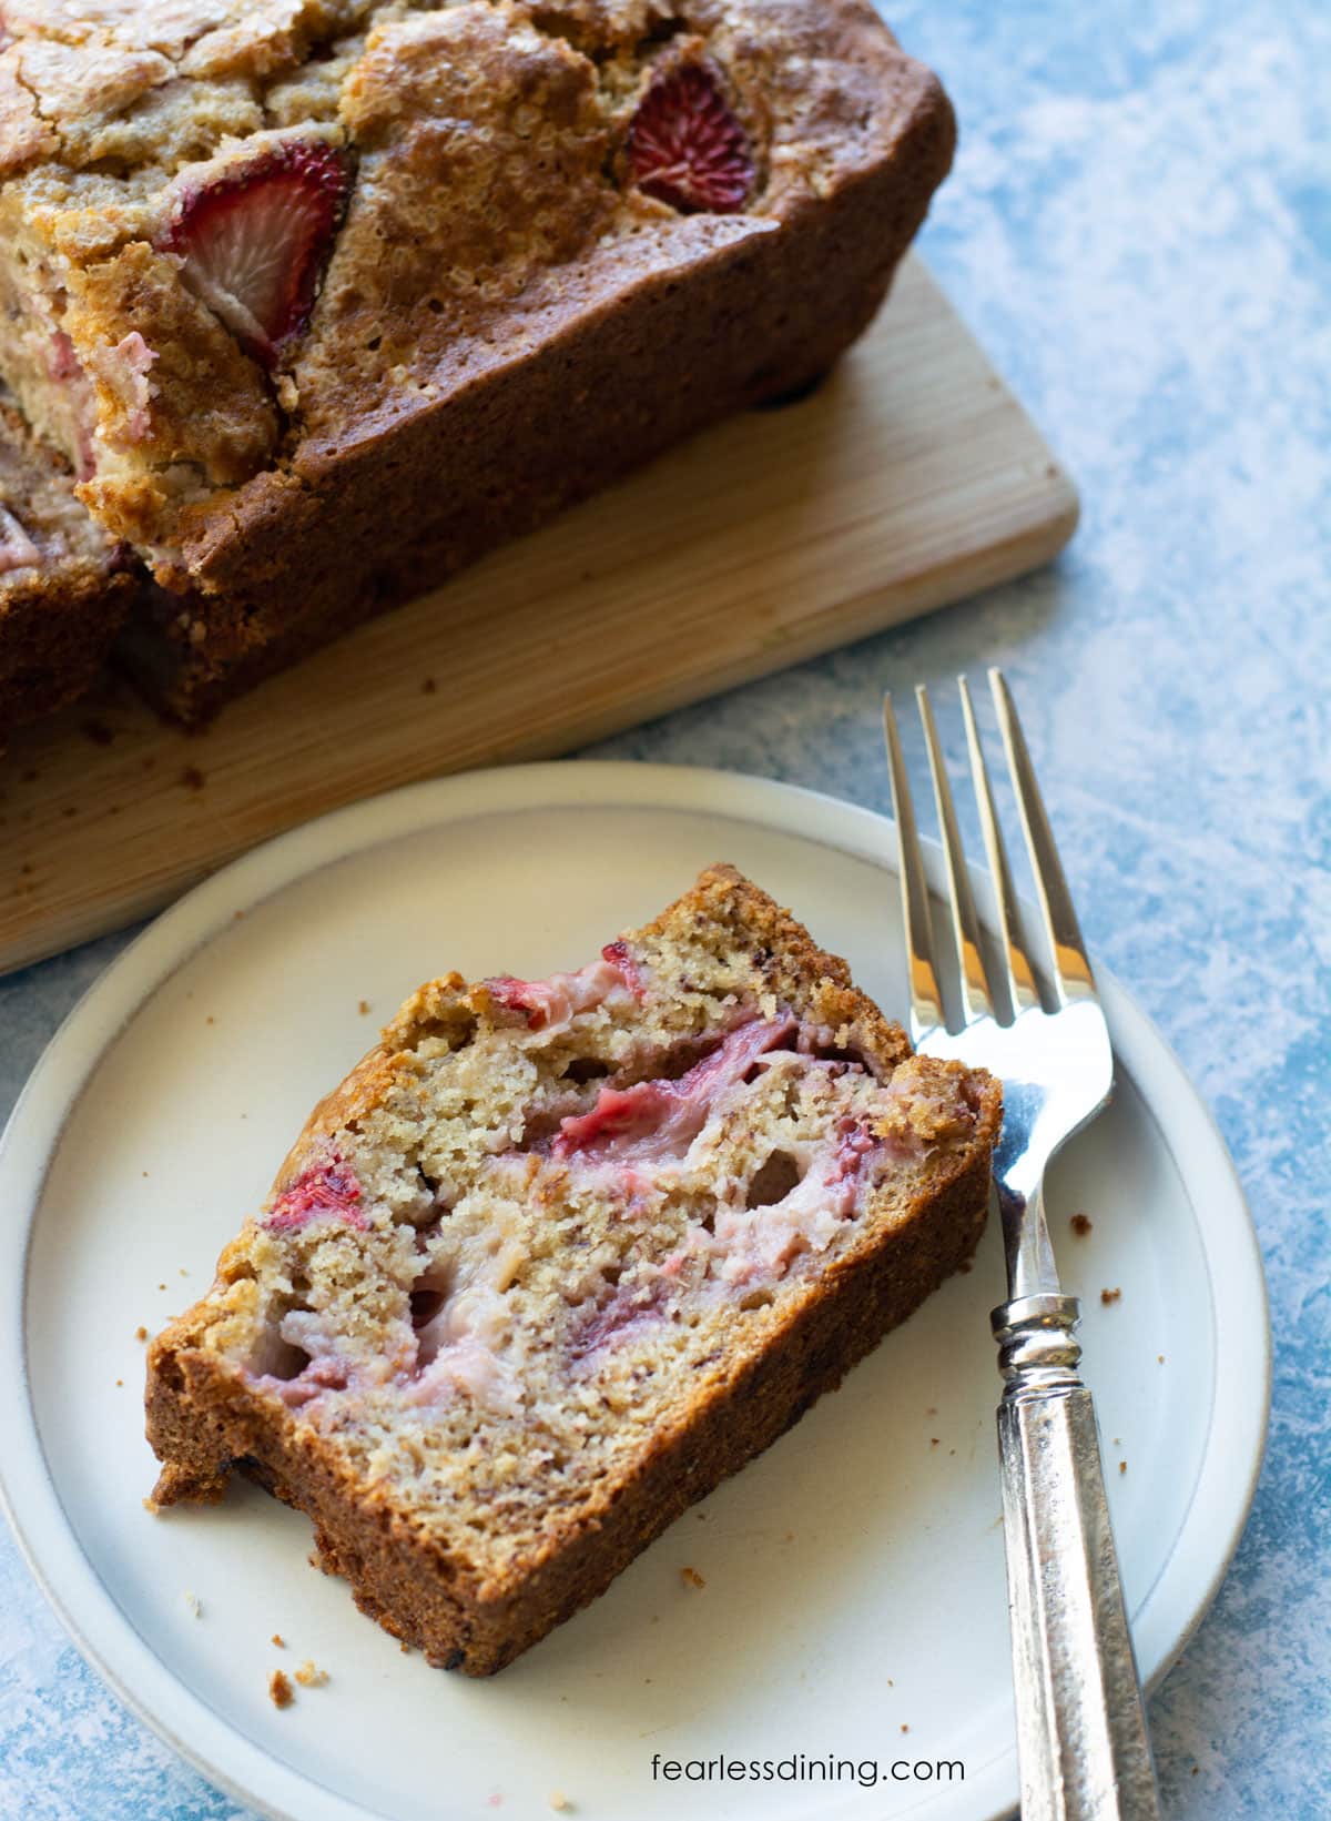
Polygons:
<instances>
[{"instance_id":1,"label":"cut slice of strawberry banana bread lying on the plate","mask_svg":"<svg viewBox=\"0 0 1331 1821\"><path fill-rule=\"evenodd\" d=\"M575 974L437 980L153 1342L157 1504L249 1473L486 1675L965 1264L998 1120L728 867Z\"/></svg>"}]
</instances>

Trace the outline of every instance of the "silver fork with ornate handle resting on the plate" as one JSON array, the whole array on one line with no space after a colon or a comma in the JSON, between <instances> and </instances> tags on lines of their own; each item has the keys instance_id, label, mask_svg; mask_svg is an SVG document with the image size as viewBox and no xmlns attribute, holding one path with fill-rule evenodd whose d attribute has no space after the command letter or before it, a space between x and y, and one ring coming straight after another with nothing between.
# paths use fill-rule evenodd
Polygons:
<instances>
[{"instance_id":1,"label":"silver fork with ornate handle resting on the plate","mask_svg":"<svg viewBox=\"0 0 1331 1821\"><path fill-rule=\"evenodd\" d=\"M901 761L892 697L883 728L901 850L910 965L910 1036L930 1056L980 1063L1003 1083L994 1184L1003 1218L1007 1297L991 1320L1003 1397L998 1446L1021 1766L1021 1821L1147 1821L1160 1816L1142 1684L1109 1528L1091 1393L1072 1338L1082 1309L1058 1282L1043 1180L1054 1153L1100 1113L1113 1053L1072 900L1049 830L1021 725L1000 670L989 672L1041 921L1054 1009L1040 1003L970 692L960 677L970 776L998 898L1005 1005L996 1007L934 714L916 688L929 747L956 943L961 1027L949 1031L929 920L929 887Z\"/></svg>"}]
</instances>

